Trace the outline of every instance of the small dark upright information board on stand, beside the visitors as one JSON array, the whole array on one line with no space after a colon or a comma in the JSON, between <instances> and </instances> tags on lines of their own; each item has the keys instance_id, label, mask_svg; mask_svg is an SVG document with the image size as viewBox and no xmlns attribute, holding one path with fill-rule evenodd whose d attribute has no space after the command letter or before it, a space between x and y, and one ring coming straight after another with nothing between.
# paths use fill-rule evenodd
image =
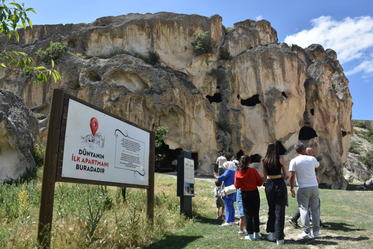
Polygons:
<instances>
[{"instance_id":1,"label":"small dark upright information board on stand, beside the visitors","mask_svg":"<svg viewBox=\"0 0 373 249\"><path fill-rule=\"evenodd\" d=\"M192 215L194 192L194 159L192 153L182 150L177 157L177 196L180 197L180 213Z\"/></svg>"}]
</instances>

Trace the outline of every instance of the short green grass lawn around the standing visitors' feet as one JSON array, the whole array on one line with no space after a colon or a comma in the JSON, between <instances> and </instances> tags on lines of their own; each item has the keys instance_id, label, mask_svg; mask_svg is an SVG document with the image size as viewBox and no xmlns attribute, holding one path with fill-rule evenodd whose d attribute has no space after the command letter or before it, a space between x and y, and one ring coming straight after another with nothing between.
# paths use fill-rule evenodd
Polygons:
<instances>
[{"instance_id":1,"label":"short green grass lawn around the standing visitors' feet","mask_svg":"<svg viewBox=\"0 0 373 249\"><path fill-rule=\"evenodd\" d=\"M185 228L167 234L162 240L146 247L147 249L373 248L373 192L355 191L358 184L351 184L348 187L350 191L320 189L321 220L330 226L327 230L320 230L320 239L300 240L297 238L297 234L302 233L302 230L294 229L288 220L294 215L298 206L296 198L292 198L289 194L289 207L286 207L285 211L285 245L277 246L275 242L266 240L268 206L264 189L259 190L263 238L251 242L237 234L237 226L221 227L224 221L215 219L216 207L213 196L215 186L212 180L213 178L210 181L196 179L196 197L193 198L193 208L197 209L195 211L198 211L198 215L194 218L194 222ZM175 178L156 174L156 185L162 182L174 184L176 187Z\"/></svg>"}]
</instances>

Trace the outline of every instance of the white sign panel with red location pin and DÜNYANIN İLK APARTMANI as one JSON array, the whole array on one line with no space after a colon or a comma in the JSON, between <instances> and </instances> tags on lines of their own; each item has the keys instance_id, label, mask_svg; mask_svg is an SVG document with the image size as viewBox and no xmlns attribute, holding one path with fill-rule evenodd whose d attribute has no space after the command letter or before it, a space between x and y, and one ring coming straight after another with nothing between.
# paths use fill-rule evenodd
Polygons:
<instances>
[{"instance_id":1,"label":"white sign panel with red location pin and D\u00dcNYANIN \u0130LK APARTMANI","mask_svg":"<svg viewBox=\"0 0 373 249\"><path fill-rule=\"evenodd\" d=\"M62 177L149 185L150 133L69 101Z\"/></svg>"}]
</instances>

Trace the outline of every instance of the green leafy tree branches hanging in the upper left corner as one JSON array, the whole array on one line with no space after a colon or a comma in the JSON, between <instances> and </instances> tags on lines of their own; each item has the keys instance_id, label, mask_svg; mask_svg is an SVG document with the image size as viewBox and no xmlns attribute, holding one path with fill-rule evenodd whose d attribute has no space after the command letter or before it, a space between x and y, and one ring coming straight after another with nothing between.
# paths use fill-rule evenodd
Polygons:
<instances>
[{"instance_id":1,"label":"green leafy tree branches hanging in the upper left corner","mask_svg":"<svg viewBox=\"0 0 373 249\"><path fill-rule=\"evenodd\" d=\"M19 42L19 35L16 28L26 29L26 21L32 29L32 22L27 17L27 11L32 11L36 14L33 8L26 8L25 4L22 3L22 6L19 3L9 2L12 6L7 6L4 3L5 0L0 0L0 34L7 36L7 41L10 40L12 36L12 31ZM17 23L21 22L22 25ZM1 44L3 46L4 44ZM2 61L2 62L1 62ZM0 50L0 70L5 68L11 72L16 73L17 75L24 74L24 76L36 74L36 85L43 81L47 83L49 76L53 76L53 81L56 83L58 79L61 79L60 75L56 70L53 69L54 62L52 62L52 69L47 69L44 66L32 67L31 63L34 62L34 59L29 57L26 53L17 52L17 51L2 51ZM31 84L31 81L28 81L28 84Z\"/></svg>"}]
</instances>

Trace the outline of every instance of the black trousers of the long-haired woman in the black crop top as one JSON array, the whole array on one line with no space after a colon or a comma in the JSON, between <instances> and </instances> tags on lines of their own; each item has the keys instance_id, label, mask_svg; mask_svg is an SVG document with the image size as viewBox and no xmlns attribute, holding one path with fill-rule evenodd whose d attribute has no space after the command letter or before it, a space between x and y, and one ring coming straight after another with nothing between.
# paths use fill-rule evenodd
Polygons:
<instances>
[{"instance_id":1,"label":"black trousers of the long-haired woman in the black crop top","mask_svg":"<svg viewBox=\"0 0 373 249\"><path fill-rule=\"evenodd\" d=\"M267 179L268 221L266 231L267 233L275 233L276 240L284 239L286 195L287 187L283 178Z\"/></svg>"}]
</instances>

